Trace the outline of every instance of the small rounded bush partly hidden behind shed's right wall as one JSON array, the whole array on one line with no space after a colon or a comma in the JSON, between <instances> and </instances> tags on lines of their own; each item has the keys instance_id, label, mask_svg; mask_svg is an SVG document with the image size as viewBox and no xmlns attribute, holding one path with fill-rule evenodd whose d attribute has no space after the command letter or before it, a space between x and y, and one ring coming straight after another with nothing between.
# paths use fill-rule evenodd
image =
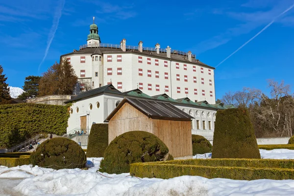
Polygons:
<instances>
[{"instance_id":1,"label":"small rounded bush partly hidden behind shed's right wall","mask_svg":"<svg viewBox=\"0 0 294 196\"><path fill-rule=\"evenodd\" d=\"M192 135L193 155L211 152L211 143L201 135Z\"/></svg>"}]
</instances>

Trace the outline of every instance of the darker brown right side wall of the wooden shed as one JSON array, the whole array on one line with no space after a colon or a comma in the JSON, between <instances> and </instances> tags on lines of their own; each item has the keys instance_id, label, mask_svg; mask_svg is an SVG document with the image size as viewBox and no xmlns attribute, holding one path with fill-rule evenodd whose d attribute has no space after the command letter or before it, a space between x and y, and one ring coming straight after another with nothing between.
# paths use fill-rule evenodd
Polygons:
<instances>
[{"instance_id":1,"label":"darker brown right side wall of the wooden shed","mask_svg":"<svg viewBox=\"0 0 294 196\"><path fill-rule=\"evenodd\" d=\"M192 132L190 121L153 120L154 134L169 148L174 158L192 158Z\"/></svg>"}]
</instances>

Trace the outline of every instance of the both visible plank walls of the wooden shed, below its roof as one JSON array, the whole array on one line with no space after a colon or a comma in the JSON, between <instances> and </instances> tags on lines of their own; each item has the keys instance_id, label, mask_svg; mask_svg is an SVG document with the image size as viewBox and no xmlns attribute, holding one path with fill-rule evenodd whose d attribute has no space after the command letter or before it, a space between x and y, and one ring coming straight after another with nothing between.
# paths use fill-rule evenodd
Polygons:
<instances>
[{"instance_id":1,"label":"both visible plank walls of the wooden shed, below its roof","mask_svg":"<svg viewBox=\"0 0 294 196\"><path fill-rule=\"evenodd\" d=\"M108 144L127 131L147 131L159 137L174 158L192 158L192 132L190 121L157 120L125 103L111 118L108 128Z\"/></svg>"}]
</instances>

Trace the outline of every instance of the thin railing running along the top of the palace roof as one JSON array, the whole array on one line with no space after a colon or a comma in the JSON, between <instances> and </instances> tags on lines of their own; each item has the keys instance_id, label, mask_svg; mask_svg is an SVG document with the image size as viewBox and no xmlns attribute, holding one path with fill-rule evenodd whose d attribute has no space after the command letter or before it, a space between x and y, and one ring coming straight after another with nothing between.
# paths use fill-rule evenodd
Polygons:
<instances>
[{"instance_id":1,"label":"thin railing running along the top of the palace roof","mask_svg":"<svg viewBox=\"0 0 294 196\"><path fill-rule=\"evenodd\" d=\"M116 49L120 49L121 45L120 44L83 44L79 46L79 49L84 49L84 48L88 48L88 47L103 47L103 48L116 48ZM138 46L134 46L134 45L126 45L125 46L126 50L138 50ZM150 51L150 52L156 52L156 48L154 47L143 47L144 51ZM167 52L166 49L160 48L159 52ZM188 53L187 52L183 52L180 50L171 50L172 54L179 54L179 55L183 55L183 56L187 56L188 57ZM195 54L192 54L192 58L196 58Z\"/></svg>"}]
</instances>

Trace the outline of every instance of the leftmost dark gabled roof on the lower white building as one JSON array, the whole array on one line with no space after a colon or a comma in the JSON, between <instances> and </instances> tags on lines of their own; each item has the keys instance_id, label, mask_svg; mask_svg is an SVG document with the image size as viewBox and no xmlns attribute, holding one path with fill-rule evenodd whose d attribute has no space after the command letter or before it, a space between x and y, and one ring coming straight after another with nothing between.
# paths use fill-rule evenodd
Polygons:
<instances>
[{"instance_id":1,"label":"leftmost dark gabled roof on the lower white building","mask_svg":"<svg viewBox=\"0 0 294 196\"><path fill-rule=\"evenodd\" d=\"M116 89L113 85L106 85L103 87L99 87L99 88L95 88L93 90L88 90L85 92L82 92L81 94L77 95L76 97L74 97L73 99L66 101L64 103L69 103L69 102L73 102L73 101L77 101L86 97L90 97L92 95L97 95L103 92L109 92L109 93L115 93L115 94L120 94L123 95L123 93L121 91L119 91L118 89Z\"/></svg>"}]
</instances>

